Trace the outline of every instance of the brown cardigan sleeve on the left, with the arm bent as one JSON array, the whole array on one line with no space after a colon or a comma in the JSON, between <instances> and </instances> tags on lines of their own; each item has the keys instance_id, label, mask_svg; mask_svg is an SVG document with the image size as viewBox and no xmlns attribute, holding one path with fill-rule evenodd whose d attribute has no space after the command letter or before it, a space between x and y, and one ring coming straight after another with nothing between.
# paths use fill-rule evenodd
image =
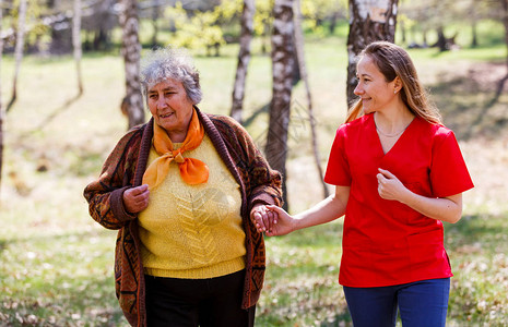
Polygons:
<instances>
[{"instance_id":1,"label":"brown cardigan sleeve on the left, with the arm bent","mask_svg":"<svg viewBox=\"0 0 508 327\"><path fill-rule=\"evenodd\" d=\"M120 229L137 215L127 211L123 192L131 187L142 130L131 130L115 146L101 177L86 185L83 195L92 218L107 229Z\"/></svg>"}]
</instances>

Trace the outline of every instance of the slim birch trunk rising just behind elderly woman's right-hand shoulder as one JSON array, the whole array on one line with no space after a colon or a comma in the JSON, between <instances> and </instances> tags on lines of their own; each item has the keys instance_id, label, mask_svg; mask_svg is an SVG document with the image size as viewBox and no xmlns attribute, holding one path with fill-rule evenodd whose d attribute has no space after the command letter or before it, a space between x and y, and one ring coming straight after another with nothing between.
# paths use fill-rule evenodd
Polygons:
<instances>
[{"instance_id":1,"label":"slim birch trunk rising just behind elderly woman's right-hand shoulder","mask_svg":"<svg viewBox=\"0 0 508 327\"><path fill-rule=\"evenodd\" d=\"M238 65L236 68L235 84L233 86L233 106L231 117L241 123L241 109L244 107L245 84L247 68L250 61L250 41L253 34L253 15L256 12L255 0L244 0L241 13L240 50L238 52Z\"/></svg>"}]
</instances>

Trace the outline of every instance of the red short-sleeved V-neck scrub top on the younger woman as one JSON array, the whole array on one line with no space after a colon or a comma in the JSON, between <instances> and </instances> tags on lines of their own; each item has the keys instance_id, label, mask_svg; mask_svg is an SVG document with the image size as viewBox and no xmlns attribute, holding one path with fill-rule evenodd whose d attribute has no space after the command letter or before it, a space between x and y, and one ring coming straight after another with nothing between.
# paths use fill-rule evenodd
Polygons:
<instances>
[{"instance_id":1,"label":"red short-sleeved V-neck scrub top on the younger woman","mask_svg":"<svg viewBox=\"0 0 508 327\"><path fill-rule=\"evenodd\" d=\"M427 197L473 187L456 136L442 125L415 118L387 154L373 113L341 125L324 175L329 184L351 186L339 282L383 287L451 277L442 222L381 198L378 168Z\"/></svg>"}]
</instances>

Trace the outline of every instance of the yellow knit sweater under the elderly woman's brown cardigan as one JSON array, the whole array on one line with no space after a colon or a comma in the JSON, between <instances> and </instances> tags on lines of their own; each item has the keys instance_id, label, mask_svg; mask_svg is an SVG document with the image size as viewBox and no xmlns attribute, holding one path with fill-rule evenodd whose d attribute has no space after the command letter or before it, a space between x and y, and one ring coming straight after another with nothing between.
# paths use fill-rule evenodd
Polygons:
<instances>
[{"instance_id":1,"label":"yellow knit sweater under the elderly woman's brown cardigan","mask_svg":"<svg viewBox=\"0 0 508 327\"><path fill-rule=\"evenodd\" d=\"M178 148L180 144L174 144ZM157 158L152 146L149 165ZM139 215L141 258L145 272L158 277L202 279L245 268L245 232L239 185L212 142L184 157L202 160L210 168L206 183L189 185L178 165L150 192L150 204Z\"/></svg>"}]
</instances>

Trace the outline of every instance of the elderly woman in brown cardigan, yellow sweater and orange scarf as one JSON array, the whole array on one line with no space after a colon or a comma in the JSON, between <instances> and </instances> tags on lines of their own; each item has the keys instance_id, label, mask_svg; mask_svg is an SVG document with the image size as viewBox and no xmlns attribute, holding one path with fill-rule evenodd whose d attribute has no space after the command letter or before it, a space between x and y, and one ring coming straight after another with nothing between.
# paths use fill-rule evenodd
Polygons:
<instances>
[{"instance_id":1,"label":"elderly woman in brown cardigan, yellow sweater and orange scarf","mask_svg":"<svg viewBox=\"0 0 508 327\"><path fill-rule=\"evenodd\" d=\"M141 83L152 119L84 190L91 216L119 229L123 314L132 326L253 326L264 243L252 221L281 204L281 175L236 121L196 107L199 73L185 51L152 51Z\"/></svg>"}]
</instances>

